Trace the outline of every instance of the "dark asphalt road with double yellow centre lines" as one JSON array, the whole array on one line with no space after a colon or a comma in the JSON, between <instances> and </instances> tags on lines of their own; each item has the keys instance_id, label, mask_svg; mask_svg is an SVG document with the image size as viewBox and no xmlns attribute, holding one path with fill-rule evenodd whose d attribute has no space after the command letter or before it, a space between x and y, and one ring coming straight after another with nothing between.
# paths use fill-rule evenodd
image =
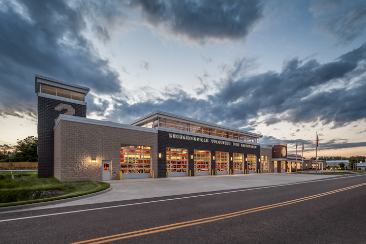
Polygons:
<instances>
[{"instance_id":1,"label":"dark asphalt road with double yellow centre lines","mask_svg":"<svg viewBox=\"0 0 366 244\"><path fill-rule=\"evenodd\" d=\"M352 176L0 213L0 243L366 243L366 174Z\"/></svg>"}]
</instances>

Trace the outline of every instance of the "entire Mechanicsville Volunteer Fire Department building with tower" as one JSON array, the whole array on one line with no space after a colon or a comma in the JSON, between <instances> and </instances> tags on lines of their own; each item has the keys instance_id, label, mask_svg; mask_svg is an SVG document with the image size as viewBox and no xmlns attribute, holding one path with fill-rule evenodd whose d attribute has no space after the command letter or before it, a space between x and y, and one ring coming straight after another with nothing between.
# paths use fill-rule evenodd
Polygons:
<instances>
[{"instance_id":1,"label":"entire Mechanicsville Volunteer Fire Department building with tower","mask_svg":"<svg viewBox=\"0 0 366 244\"><path fill-rule=\"evenodd\" d=\"M194 177L314 167L310 161L302 162L301 157L296 161L296 156L287 155L285 143L260 144L260 134L163 111L153 111L129 124L86 118L89 90L35 76L39 177Z\"/></svg>"}]
</instances>

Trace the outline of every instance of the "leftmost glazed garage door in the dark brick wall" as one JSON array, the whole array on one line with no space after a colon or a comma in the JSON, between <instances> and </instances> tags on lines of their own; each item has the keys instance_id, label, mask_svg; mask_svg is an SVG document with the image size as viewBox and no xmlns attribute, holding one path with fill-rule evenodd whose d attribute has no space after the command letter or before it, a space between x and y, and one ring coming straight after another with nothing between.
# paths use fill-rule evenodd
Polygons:
<instances>
[{"instance_id":1,"label":"leftmost glazed garage door in the dark brick wall","mask_svg":"<svg viewBox=\"0 0 366 244\"><path fill-rule=\"evenodd\" d=\"M187 172L187 149L167 148L167 172Z\"/></svg>"}]
</instances>

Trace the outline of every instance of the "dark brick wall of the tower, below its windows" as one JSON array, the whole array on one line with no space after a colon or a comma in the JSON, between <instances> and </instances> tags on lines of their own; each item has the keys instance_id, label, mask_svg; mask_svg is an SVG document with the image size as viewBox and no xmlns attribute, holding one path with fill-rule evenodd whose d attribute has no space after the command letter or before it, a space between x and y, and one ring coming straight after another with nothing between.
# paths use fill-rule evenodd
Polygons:
<instances>
[{"instance_id":1,"label":"dark brick wall of the tower, below its windows","mask_svg":"<svg viewBox=\"0 0 366 244\"><path fill-rule=\"evenodd\" d=\"M53 127L55 126L55 119L58 118L58 115L64 113L79 117L86 117L86 105L38 97L37 131L39 177L52 176L54 173Z\"/></svg>"}]
</instances>

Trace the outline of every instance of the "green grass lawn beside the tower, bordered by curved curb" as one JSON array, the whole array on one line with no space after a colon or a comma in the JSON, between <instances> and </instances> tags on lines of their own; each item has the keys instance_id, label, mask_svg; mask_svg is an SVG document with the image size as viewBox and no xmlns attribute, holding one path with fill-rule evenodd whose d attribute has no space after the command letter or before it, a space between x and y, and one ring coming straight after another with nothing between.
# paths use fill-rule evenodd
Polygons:
<instances>
[{"instance_id":1,"label":"green grass lawn beside the tower, bordered by curved curb","mask_svg":"<svg viewBox=\"0 0 366 244\"><path fill-rule=\"evenodd\" d=\"M0 207L76 197L107 188L108 183L99 181L62 182L55 177L38 178L37 172L0 172Z\"/></svg>"}]
</instances>

